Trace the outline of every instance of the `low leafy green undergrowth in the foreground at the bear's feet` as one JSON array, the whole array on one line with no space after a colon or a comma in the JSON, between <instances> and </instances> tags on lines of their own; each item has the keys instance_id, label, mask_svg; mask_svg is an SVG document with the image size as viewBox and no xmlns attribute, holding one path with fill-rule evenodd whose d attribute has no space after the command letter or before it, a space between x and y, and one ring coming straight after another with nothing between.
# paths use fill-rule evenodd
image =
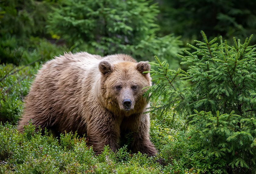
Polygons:
<instances>
[{"instance_id":1,"label":"low leafy green undergrowth in the foreground at the bear's feet","mask_svg":"<svg viewBox=\"0 0 256 174\"><path fill-rule=\"evenodd\" d=\"M127 151L116 153L108 146L95 155L88 139L66 133L59 139L34 132L28 125L23 134L15 126L0 125L0 173L222 173L216 159L195 151L198 144L184 133L151 122L151 141L158 148L155 157ZM162 158L164 165L157 160Z\"/></svg>"}]
</instances>

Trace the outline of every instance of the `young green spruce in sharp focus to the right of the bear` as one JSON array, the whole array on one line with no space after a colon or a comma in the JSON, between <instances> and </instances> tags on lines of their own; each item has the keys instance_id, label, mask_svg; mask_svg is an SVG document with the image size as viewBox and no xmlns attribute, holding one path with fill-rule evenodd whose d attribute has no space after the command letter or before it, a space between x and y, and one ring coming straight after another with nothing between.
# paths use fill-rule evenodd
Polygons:
<instances>
[{"instance_id":1,"label":"young green spruce in sharp focus to the right of the bear","mask_svg":"<svg viewBox=\"0 0 256 174\"><path fill-rule=\"evenodd\" d=\"M169 70L168 63L156 57L158 74L156 85L151 86L146 96L162 97L163 104L152 107L156 114L172 110L190 115L188 125L192 138L204 147L202 152L212 158L226 161L233 172L255 172L256 168L256 58L255 46L249 46L252 36L243 44L234 38L234 46L226 41L208 41L198 47L188 44L196 51L181 56L182 64L188 64L187 72ZM189 82L187 87L178 87L181 77Z\"/></svg>"}]
</instances>

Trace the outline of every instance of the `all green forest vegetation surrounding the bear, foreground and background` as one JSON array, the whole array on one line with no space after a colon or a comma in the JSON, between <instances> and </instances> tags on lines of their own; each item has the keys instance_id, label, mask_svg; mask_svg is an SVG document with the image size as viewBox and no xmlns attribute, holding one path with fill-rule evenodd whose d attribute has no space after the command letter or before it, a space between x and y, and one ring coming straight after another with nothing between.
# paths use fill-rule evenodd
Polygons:
<instances>
[{"instance_id":1,"label":"all green forest vegetation surrounding the bear, foreground and background","mask_svg":"<svg viewBox=\"0 0 256 174\"><path fill-rule=\"evenodd\" d=\"M255 0L0 0L0 174L256 174L256 48L248 46L256 44L255 6ZM227 43L208 42L204 33ZM157 69L151 74L159 83L148 90L150 135L165 165L125 146L96 156L76 134L58 140L32 125L17 132L40 65L79 51L125 53Z\"/></svg>"}]
</instances>

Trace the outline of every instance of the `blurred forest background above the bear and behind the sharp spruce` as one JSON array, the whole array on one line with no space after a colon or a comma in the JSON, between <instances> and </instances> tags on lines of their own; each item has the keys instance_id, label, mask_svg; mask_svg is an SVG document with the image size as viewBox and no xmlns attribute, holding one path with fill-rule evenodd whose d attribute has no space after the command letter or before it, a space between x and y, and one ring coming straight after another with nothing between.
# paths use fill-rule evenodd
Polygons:
<instances>
[{"instance_id":1,"label":"blurred forest background above the bear and behind the sharp spruce","mask_svg":"<svg viewBox=\"0 0 256 174\"><path fill-rule=\"evenodd\" d=\"M0 61L25 65L64 51L101 56L154 55L179 67L176 53L208 36L246 38L256 33L251 0L2 0ZM256 43L253 38L252 44Z\"/></svg>"}]
</instances>

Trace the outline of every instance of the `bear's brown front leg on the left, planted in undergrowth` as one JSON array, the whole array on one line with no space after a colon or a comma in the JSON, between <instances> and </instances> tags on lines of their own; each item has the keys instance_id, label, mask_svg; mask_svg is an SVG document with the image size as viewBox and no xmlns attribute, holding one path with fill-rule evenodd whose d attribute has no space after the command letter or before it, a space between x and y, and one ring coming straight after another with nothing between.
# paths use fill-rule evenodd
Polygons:
<instances>
[{"instance_id":1,"label":"bear's brown front leg on the left, planted in undergrowth","mask_svg":"<svg viewBox=\"0 0 256 174\"><path fill-rule=\"evenodd\" d=\"M112 151L119 148L118 141L120 138L120 121L113 117L93 118L87 125L87 135L94 146L96 154L103 151L105 145L109 145Z\"/></svg>"}]
</instances>

